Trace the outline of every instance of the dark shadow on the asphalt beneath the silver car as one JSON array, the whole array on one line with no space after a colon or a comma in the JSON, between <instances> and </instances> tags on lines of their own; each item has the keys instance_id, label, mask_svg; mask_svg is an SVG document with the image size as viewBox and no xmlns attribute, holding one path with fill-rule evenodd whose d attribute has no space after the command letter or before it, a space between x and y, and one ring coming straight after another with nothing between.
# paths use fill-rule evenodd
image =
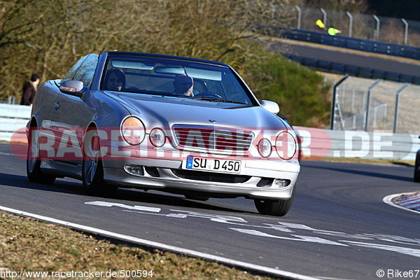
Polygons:
<instances>
[{"instance_id":1,"label":"dark shadow on the asphalt beneath the silver car","mask_svg":"<svg viewBox=\"0 0 420 280\"><path fill-rule=\"evenodd\" d=\"M228 211L232 213L241 214L257 214L256 212L249 212L240 209L233 209L228 207L221 207L211 204L211 202L198 202L188 200L181 196L167 195L165 193L147 193L137 189L119 188L116 195L113 197L94 197L85 194L82 183L63 181L57 179L52 185L45 185L42 183L31 183L26 176L11 175L0 173L0 181L4 186L14 188L27 188L31 190L44 190L55 193L67 193L73 195L81 195L83 197L92 197L92 199L100 200L118 200L118 203L127 202L144 202L147 204L166 205L169 207L186 207L195 209L205 209L214 211Z\"/></svg>"}]
</instances>

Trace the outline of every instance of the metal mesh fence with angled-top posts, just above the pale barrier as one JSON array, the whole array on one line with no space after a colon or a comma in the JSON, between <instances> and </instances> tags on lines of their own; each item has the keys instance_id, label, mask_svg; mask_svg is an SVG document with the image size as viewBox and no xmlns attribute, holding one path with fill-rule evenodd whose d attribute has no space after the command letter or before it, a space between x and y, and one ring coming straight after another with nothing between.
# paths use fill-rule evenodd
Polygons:
<instances>
[{"instance_id":1,"label":"metal mesh fence with angled-top posts, just above the pale barrier","mask_svg":"<svg viewBox=\"0 0 420 280\"><path fill-rule=\"evenodd\" d=\"M332 130L420 133L420 85L347 77L332 104Z\"/></svg>"}]
</instances>

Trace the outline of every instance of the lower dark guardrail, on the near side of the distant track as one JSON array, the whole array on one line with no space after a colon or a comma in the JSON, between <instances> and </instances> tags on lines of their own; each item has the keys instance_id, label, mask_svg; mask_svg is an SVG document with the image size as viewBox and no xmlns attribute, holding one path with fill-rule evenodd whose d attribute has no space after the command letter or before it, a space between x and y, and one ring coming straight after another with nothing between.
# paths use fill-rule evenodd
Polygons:
<instances>
[{"instance_id":1,"label":"lower dark guardrail, on the near side of the distant track","mask_svg":"<svg viewBox=\"0 0 420 280\"><path fill-rule=\"evenodd\" d=\"M384 79L393 80L400 83L415 83L420 84L420 76L406 75L402 73L396 73L392 71L382 71L378 69L372 69L367 67L353 66L349 64L343 64L338 62L329 62L321 59L313 59L307 57L299 57L297 55L284 55L295 62L299 62L304 66L314 67L316 69L322 69L324 71L332 73L351 74L353 76L361 78L373 78L373 79Z\"/></svg>"}]
</instances>

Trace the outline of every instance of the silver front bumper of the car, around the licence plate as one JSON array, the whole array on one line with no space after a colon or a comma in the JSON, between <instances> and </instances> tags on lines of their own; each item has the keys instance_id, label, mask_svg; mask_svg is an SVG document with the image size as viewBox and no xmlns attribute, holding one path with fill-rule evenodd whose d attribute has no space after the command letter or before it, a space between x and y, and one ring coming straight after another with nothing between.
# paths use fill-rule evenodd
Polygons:
<instances>
[{"instance_id":1,"label":"silver front bumper of the car, around the licence plate","mask_svg":"<svg viewBox=\"0 0 420 280\"><path fill-rule=\"evenodd\" d=\"M300 172L297 161L260 159L241 160L241 162L243 167L241 173L237 174L241 179L239 183L227 183L223 181L225 174L214 172L202 174L214 174L218 177L217 181L206 181L200 179L200 176L198 178L195 176L194 179L181 177L177 171L188 173L182 169L182 160L106 160L103 166L105 181L121 188L176 190L177 193L196 192L208 197L246 197L261 200L288 200L292 196ZM130 174L125 170L126 165L139 167L143 172ZM276 179L286 181L286 186L276 184ZM262 184L262 180L266 183Z\"/></svg>"}]
</instances>

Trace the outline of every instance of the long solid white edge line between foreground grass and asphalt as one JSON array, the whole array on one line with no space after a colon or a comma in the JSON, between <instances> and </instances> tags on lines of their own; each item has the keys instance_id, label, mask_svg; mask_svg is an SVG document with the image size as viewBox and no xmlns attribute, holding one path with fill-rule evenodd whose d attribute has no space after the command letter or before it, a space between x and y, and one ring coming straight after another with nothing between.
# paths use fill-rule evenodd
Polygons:
<instances>
[{"instance_id":1,"label":"long solid white edge line between foreground grass and asphalt","mask_svg":"<svg viewBox=\"0 0 420 280\"><path fill-rule=\"evenodd\" d=\"M41 216L41 215L38 215L38 214L32 214L32 213L29 213L29 212L20 211L20 210L8 208L8 207L0 206L0 210L6 211L6 212L11 213L11 214L17 214L19 216L35 218L35 219L40 220L40 221L55 223L57 225L64 225L67 228L72 228L72 229L75 229L75 230L83 230L85 232L90 232L90 233L97 234L97 235L102 235L102 236L105 236L105 237L112 237L112 238L116 238L116 239L119 239L119 240L128 241L130 243L141 244L141 245L144 245L144 246L151 246L151 247L154 247L154 248L160 248L160 249L163 249L163 250L166 250L166 251L172 251L172 252L175 252L175 253L183 253L183 254L190 255L190 256L193 256L193 257L197 257L197 258L204 258L204 259L207 259L207 260L213 260L213 261L216 261L216 262L221 262L223 264L233 265L235 267L242 267L242 268L245 268L245 269L252 269L252 270L255 270L255 271L265 272L265 273L273 274L273 275L276 275L276 276L288 277L290 279L295 279L295 280L321 280L319 278L315 278L315 277L311 277L311 276L296 274L296 273L293 273L293 272L286 272L284 270L274 269L274 268L271 268L271 267L264 267L262 265L254 265L254 264L249 263L249 262L241 262L239 260L232 260L230 258L223 258L223 257L220 257L218 255L210 255L208 253L201 253L199 251L193 251L193 250L189 250L189 249L186 249L186 248L180 248L180 247L176 247L176 246L172 246L172 245L162 244L162 243L155 242L155 241L149 241L149 240L146 240L146 239L132 237L130 235L121 235L119 233L110 232L108 230L101 230L99 228L92 228L92 227L87 226L87 225L70 223L70 222L66 222L66 221L62 221L62 220L57 220L55 218L50 218L50 217L47 217L47 216Z\"/></svg>"}]
</instances>

